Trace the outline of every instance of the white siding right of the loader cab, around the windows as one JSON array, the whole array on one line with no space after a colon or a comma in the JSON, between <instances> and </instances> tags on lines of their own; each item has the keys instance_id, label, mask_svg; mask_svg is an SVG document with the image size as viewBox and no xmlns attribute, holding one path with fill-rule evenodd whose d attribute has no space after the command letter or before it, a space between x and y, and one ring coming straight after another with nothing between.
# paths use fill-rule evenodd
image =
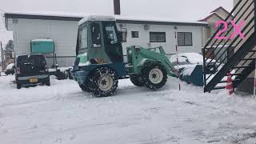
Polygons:
<instances>
[{"instance_id":1,"label":"white siding right of the loader cab, around the windows","mask_svg":"<svg viewBox=\"0 0 256 144\"><path fill-rule=\"evenodd\" d=\"M119 25L118 25L119 26ZM149 30L144 29L142 24L122 24L128 30L127 42L123 43L123 51L126 54L126 47L130 45L142 47L156 47L162 46L166 50L166 54L175 54L176 39L174 31L176 32L192 32L192 46L179 46L180 53L202 53L202 46L205 45L205 28L202 26L176 26L178 29L174 30L174 26L168 25L149 25ZM131 38L131 31L138 31L138 38ZM150 32L166 32L166 42L150 42Z\"/></svg>"}]
</instances>

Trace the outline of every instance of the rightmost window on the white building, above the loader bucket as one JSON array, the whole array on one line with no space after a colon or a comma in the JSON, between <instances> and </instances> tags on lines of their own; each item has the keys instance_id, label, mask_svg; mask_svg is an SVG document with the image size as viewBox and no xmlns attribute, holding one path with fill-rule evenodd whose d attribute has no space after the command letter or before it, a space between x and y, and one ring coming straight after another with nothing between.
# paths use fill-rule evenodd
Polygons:
<instances>
[{"instance_id":1,"label":"rightmost window on the white building, above the loader bucket","mask_svg":"<svg viewBox=\"0 0 256 144\"><path fill-rule=\"evenodd\" d=\"M178 46L193 46L191 32L178 32Z\"/></svg>"}]
</instances>

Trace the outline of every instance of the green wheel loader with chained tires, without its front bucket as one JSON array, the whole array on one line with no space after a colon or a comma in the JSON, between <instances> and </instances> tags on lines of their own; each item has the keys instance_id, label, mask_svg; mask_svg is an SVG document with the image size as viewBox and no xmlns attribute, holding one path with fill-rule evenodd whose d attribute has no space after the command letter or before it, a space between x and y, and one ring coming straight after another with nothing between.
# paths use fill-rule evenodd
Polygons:
<instances>
[{"instance_id":1,"label":"green wheel loader with chained tires, without its front bucket","mask_svg":"<svg viewBox=\"0 0 256 144\"><path fill-rule=\"evenodd\" d=\"M106 97L118 88L118 79L130 78L135 86L158 90L174 76L174 66L162 46L130 46L124 62L122 42L126 31L119 32L114 17L90 15L78 23L77 58L72 76L83 91Z\"/></svg>"}]
</instances>

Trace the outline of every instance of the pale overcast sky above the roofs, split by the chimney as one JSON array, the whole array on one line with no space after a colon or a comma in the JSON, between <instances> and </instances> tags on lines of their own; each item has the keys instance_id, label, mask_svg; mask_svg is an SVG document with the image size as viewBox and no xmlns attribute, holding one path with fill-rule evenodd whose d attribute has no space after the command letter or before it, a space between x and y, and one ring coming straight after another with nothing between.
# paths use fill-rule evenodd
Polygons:
<instances>
[{"instance_id":1,"label":"pale overcast sky above the roofs, split by the chimney","mask_svg":"<svg viewBox=\"0 0 256 144\"><path fill-rule=\"evenodd\" d=\"M168 18L174 21L197 21L218 6L231 10L233 0L121 0L125 16ZM113 14L113 0L0 0L0 9L11 11L54 11L65 13ZM3 13L0 10L0 14ZM0 18L0 41L12 37L4 31Z\"/></svg>"}]
</instances>

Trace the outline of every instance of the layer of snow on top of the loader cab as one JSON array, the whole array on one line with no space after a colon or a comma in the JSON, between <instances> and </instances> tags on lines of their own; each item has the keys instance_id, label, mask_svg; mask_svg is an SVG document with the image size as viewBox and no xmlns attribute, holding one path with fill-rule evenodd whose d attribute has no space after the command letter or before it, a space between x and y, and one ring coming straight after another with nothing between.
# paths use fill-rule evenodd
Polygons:
<instances>
[{"instance_id":1,"label":"layer of snow on top of the loader cab","mask_svg":"<svg viewBox=\"0 0 256 144\"><path fill-rule=\"evenodd\" d=\"M106 15L88 15L85 18L82 18L82 20L80 20L78 22L78 26L82 25L82 23L84 22L88 22L88 21L115 21L114 16L106 16Z\"/></svg>"}]
</instances>

